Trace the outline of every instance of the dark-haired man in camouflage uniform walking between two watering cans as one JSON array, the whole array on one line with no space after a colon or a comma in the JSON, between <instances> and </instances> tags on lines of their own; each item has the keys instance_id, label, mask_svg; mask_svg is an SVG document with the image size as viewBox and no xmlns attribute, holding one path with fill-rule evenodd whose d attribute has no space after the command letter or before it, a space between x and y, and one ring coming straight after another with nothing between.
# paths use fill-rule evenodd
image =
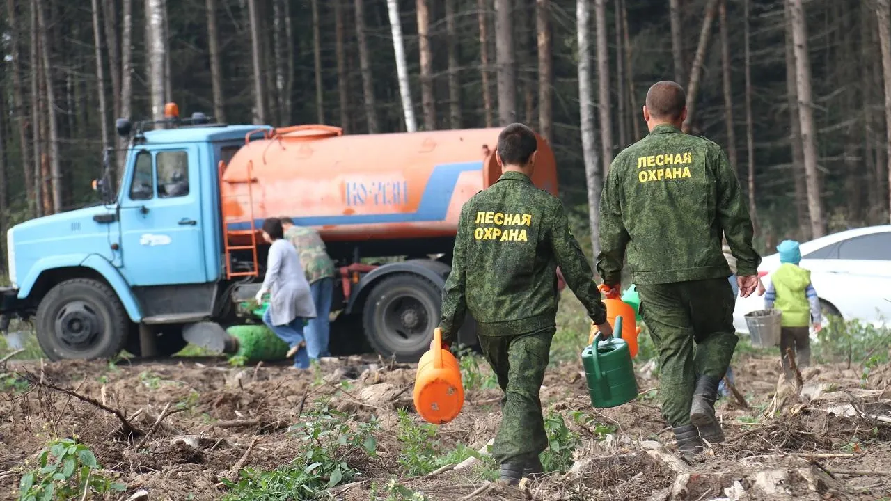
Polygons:
<instances>
[{"instance_id":1,"label":"dark-haired man in camouflage uniform walking between two watering cans","mask_svg":"<svg viewBox=\"0 0 891 501\"><path fill-rule=\"evenodd\" d=\"M556 330L557 265L594 324L612 333L563 204L532 184L536 149L525 125L498 136L503 175L462 207L440 323L448 344L468 310L477 321L479 344L504 391L492 454L511 485L542 472L538 456L548 446L538 391Z\"/></svg>"}]
</instances>

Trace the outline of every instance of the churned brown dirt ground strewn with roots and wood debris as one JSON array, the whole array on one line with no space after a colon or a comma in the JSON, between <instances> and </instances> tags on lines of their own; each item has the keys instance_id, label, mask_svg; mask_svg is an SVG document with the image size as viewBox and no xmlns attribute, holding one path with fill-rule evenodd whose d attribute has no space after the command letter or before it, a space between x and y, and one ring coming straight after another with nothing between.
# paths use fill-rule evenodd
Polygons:
<instances>
[{"instance_id":1,"label":"churned brown dirt ground strewn with roots and wood debris","mask_svg":"<svg viewBox=\"0 0 891 501\"><path fill-rule=\"evenodd\" d=\"M412 408L413 365L351 357L316 374L287 365L232 367L222 358L7 365L7 374L27 373L107 409L39 384L7 388L0 396L0 499L19 497L21 472L34 469L48 439L73 436L126 485L126 492L110 498L127 499L144 489L148 496L137 498L218 499L228 490L222 479L237 478L240 467L271 471L301 456L307 441L289 428L327 398L329 407L352 418L351 425L372 415L380 425L374 431L377 455L347 458L361 474L331 489L334 499L412 499L396 497L392 489L381 494L391 478L431 500L891 499L887 366L865 381L856 366L813 367L796 387L777 383L777 360L744 358L735 366L735 381L748 408L722 398L725 443L686 463L674 455L672 433L658 414L651 365L638 367L642 396L611 409L594 409L579 366L561 365L548 372L542 400L579 434L575 463L516 489L488 484L480 465L446 465L424 476L402 473L397 409L408 409L420 423ZM485 448L499 421L499 394L468 391L462 414L431 439L447 447ZM122 432L112 410L133 431ZM573 417L579 415L594 423Z\"/></svg>"}]
</instances>

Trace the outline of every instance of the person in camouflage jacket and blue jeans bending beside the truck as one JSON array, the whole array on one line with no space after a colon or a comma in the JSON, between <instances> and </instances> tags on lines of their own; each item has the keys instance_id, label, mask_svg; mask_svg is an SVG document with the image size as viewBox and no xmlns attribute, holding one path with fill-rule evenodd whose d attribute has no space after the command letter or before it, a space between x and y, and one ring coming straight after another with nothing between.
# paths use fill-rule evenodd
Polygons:
<instances>
[{"instance_id":1,"label":"person in camouflage jacket and blue jeans bending beside the truck","mask_svg":"<svg viewBox=\"0 0 891 501\"><path fill-rule=\"evenodd\" d=\"M315 317L307 321L307 351L311 360L331 357L328 350L331 338L331 297L334 294L334 261L325 250L325 242L315 228L296 226L291 218L280 218L284 239L290 242L300 256L300 265L307 275L309 291L315 303Z\"/></svg>"}]
</instances>

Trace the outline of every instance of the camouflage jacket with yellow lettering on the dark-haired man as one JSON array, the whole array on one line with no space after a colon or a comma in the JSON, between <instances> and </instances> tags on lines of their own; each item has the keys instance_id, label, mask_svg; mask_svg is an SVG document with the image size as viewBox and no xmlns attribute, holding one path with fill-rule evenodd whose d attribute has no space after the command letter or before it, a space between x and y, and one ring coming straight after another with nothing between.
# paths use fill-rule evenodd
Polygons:
<instances>
[{"instance_id":1,"label":"camouflage jacket with yellow lettering on the dark-haired man","mask_svg":"<svg viewBox=\"0 0 891 501\"><path fill-rule=\"evenodd\" d=\"M593 272L569 231L563 204L528 177L506 172L464 204L452 273L443 291L443 339L461 328L466 311L487 333L530 333L555 324L557 275L592 320L606 311Z\"/></svg>"}]
</instances>

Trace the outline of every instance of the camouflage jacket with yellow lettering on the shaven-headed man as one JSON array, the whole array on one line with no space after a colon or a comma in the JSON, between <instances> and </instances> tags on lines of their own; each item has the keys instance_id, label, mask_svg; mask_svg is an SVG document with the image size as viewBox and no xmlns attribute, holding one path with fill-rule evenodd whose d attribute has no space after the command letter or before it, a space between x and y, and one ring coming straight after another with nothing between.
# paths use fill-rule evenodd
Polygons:
<instances>
[{"instance_id":1,"label":"camouflage jacket with yellow lettering on the shaven-headed man","mask_svg":"<svg viewBox=\"0 0 891 501\"><path fill-rule=\"evenodd\" d=\"M603 282L620 280L627 251L634 283L705 280L731 275L726 236L740 276L755 275L752 220L736 173L717 144L670 125L613 160L600 209Z\"/></svg>"}]
</instances>

